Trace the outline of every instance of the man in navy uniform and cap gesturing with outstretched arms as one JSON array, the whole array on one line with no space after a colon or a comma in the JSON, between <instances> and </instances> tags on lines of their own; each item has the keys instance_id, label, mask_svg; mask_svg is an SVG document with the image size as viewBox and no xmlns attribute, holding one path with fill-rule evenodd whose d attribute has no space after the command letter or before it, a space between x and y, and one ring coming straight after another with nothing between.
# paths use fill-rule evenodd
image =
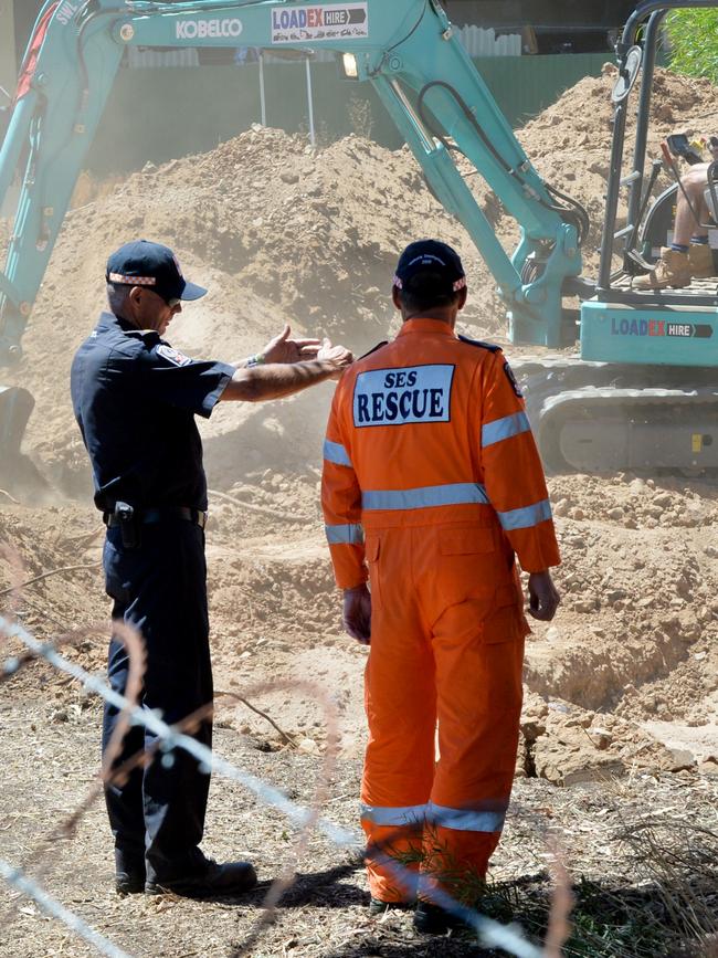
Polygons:
<instances>
[{"instance_id":1,"label":"man in navy uniform and cap gesturing with outstretched arms","mask_svg":"<svg viewBox=\"0 0 718 958\"><path fill-rule=\"evenodd\" d=\"M229 366L196 361L162 339L181 302L207 292L186 282L167 246L145 240L113 253L107 264L109 313L78 349L72 399L104 515L106 588L113 618L141 633L147 664L141 705L168 724L212 701L204 524L207 481L196 415L218 402L260 402L338 378L351 355L328 340L289 339L289 328L264 351ZM128 656L113 638L109 681L124 694ZM103 748L118 718L107 707ZM196 733L211 745L210 720ZM156 739L142 727L126 735L115 767ZM198 848L209 775L175 750L106 789L115 836L119 893L169 889L180 895L231 894L256 884L249 862L217 864Z\"/></svg>"}]
</instances>

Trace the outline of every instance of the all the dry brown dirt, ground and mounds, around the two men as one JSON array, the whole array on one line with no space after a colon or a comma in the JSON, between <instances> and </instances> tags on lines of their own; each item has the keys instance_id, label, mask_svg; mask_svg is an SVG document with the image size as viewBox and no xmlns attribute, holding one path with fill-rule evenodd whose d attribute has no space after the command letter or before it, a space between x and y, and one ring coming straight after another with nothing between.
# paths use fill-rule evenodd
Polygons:
<instances>
[{"instance_id":1,"label":"all the dry brown dirt, ground and mounds, around the two men","mask_svg":"<svg viewBox=\"0 0 718 958\"><path fill-rule=\"evenodd\" d=\"M613 82L609 73L582 81L519 131L540 171L591 212L589 266ZM706 108L715 91L669 74L659 74L657 85L656 135L675 127L674 114L701 131L718 128ZM500 204L478 196L509 243L515 227ZM102 308L109 250L137 235L173 245L187 274L211 293L188 306L169 337L190 355L231 361L256 351L285 322L297 333L346 340L356 352L386 338L397 322L387 305L397 253L429 231L465 256L472 285L465 329L505 341L485 266L422 187L405 150L351 137L315 154L298 138L255 129L211 154L148 167L75 209L24 339L25 359L13 373L38 399L25 451L51 491L41 504L0 493L7 547L0 613L41 639L95 623L66 654L102 673L103 529L88 506L89 475L66 383L74 348ZM299 803L310 801L326 750L321 709L302 692L253 687L277 678L318 683L339 708L341 736L324 813L356 829L366 652L340 633L318 510L330 397L326 386L282 403L221 408L202 424L214 489L208 558L215 684L220 693L246 693L293 743L220 695L217 750ZM551 897L547 863L558 842L578 897L574 944L566 954L699 954L697 945L679 950L677 943L695 939L698 927L715 931L718 914L718 482L622 474L555 476L549 485L563 604L556 622L537 627L528 642L516 800L487 907L541 940ZM87 568L33 582L19 598L6 591L77 566ZM14 652L13 643L0 646L0 660ZM203 904L117 898L97 804L75 838L32 860L95 781L99 710L46 665L28 666L0 692L0 857L30 863L29 874L130 954L236 951L263 892ZM210 853L251 855L268 881L291 861L293 840L279 812L214 777ZM426 944L405 916L367 919L356 853L326 839L313 838L297 867L277 923L247 954L485 954L461 936ZM14 893L0 891L0 955L92 954Z\"/></svg>"}]
</instances>

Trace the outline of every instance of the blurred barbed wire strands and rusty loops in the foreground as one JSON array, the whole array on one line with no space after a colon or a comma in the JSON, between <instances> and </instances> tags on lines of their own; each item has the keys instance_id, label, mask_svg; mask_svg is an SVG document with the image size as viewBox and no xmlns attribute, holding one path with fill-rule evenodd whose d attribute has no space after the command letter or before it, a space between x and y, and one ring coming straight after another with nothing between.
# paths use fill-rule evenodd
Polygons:
<instances>
[{"instance_id":1,"label":"blurred barbed wire strands and rusty loops in the foreground","mask_svg":"<svg viewBox=\"0 0 718 958\"><path fill-rule=\"evenodd\" d=\"M42 659L49 662L59 671L72 676L73 678L82 683L83 688L86 692L94 693L101 696L105 702L115 706L122 713L122 722L118 723L118 728L116 728L116 734L113 736L112 740L112 754L106 755L103 762L101 782L91 790L87 799L80 806L78 810L70 817L68 821L64 825L64 832L63 828L61 827L60 829L53 831L53 836L56 836L60 832L63 832L64 834L72 833L74 828L76 828L76 824L82 814L92 806L98 794L102 793L102 788L104 785L116 781L119 777L128 775L129 771L138 765L148 765L149 762L156 760L157 757L160 755L163 758L170 757L171 759L171 752L177 748L192 755L199 762L200 770L203 770L205 773L210 773L210 771L215 771L224 778L228 778L243 786L249 791L251 791L261 802L282 812L287 819L289 819L289 821L295 824L295 827L299 829L299 835L294 845L292 861L285 866L279 877L276 878L275 882L272 884L265 899L265 909L262 916L253 925L245 941L237 948L235 948L232 952L233 958L246 956L250 948L253 947L253 945L261 936L262 931L272 923L276 906L278 905L282 895L287 891L288 887L291 887L291 885L295 881L296 863L298 862L299 856L306 851L308 839L315 829L317 831L320 831L327 839L329 839L329 841L331 841L335 845L339 848L351 849L353 851L359 851L363 848L362 840L357 832L337 825L320 815L320 808L325 799L327 798L328 783L330 781L331 772L334 770L338 755L338 714L336 705L327 695L327 693L320 688L320 686L310 682L293 680L278 680L262 683L260 685L253 686L252 689L245 692L244 696L235 693L224 693L225 696L233 697L237 702L242 702L242 698L249 696L250 694L262 694L266 691L288 689L298 687L305 693L312 694L315 698L319 701L325 712L325 723L327 728L327 749L325 754L324 767L319 776L318 786L315 791L312 806L309 808L306 808L293 802L274 786L263 781L262 779L258 779L251 772L241 769L237 766L234 766L233 764L215 755L214 752L212 752L211 749L201 745L188 734L200 722L202 722L212 714L213 706L211 704L204 706L203 708L188 716L178 725L173 726L167 725L156 713L142 709L141 706L137 704L137 696L139 693L139 687L141 686L141 675L144 672L144 642L141 640L141 636L139 636L134 629L125 625L124 623L115 622L114 629L116 633L122 638L122 640L126 643L126 646L128 649L128 655L130 657L130 672L133 675L133 680L128 686L128 691L130 693L128 697L122 696L118 693L114 692L104 681L102 681L97 676L89 674L76 663L71 662L70 660L61 655L54 642L41 642L35 639L24 627L15 622L11 622L3 617L0 617L0 635L18 640L28 650L28 652L23 656L11 656L10 659L6 660L6 662L0 665L0 676L4 675L6 677L9 677L13 674L17 674L17 672L30 661L33 661L35 659ZM96 631L96 627L92 627L92 630L76 630L76 632L74 633L62 636L59 641L66 642L71 638L77 638L81 634L87 634L87 632L89 631ZM149 731L151 731L152 735L156 737L155 746L149 752L146 750L144 750L142 752L138 752L131 759L119 766L119 768L112 769L113 761L115 760L116 756L119 754L119 749L122 748L122 741L124 739L124 736L133 725L141 725ZM379 856L382 859L383 864L386 864L387 867L391 868L393 875L395 876L395 880L400 884L410 885L412 882L415 882L415 872L400 864L398 861L395 861L395 859L391 857L391 855L386 854L383 849L372 848L369 851L372 856ZM10 866L8 866L8 868L10 868ZM18 870L10 868L10 872L15 876L15 883L18 881L18 875L22 876L22 873L18 872ZM6 877L4 872L2 873L2 877ZM22 876L21 880L23 882L23 891L25 892L25 894L31 894L32 897L35 897L35 895L33 894L34 892L39 892L41 893L41 895L44 894L42 893L42 889L30 880L24 878L24 876ZM541 956L543 955L542 949L528 941L525 938L522 931L517 926L501 925L498 922L481 915L473 908L461 905L441 887L432 888L431 897L434 904L444 908L450 914L458 917L469 928L473 928L483 945L486 945L487 947L503 948L508 954L516 956L516 958L541 958ZM44 907L43 902L45 901L45 898L47 901L52 901L46 895L44 896L42 902L39 897L35 897L35 901L38 901L38 904ZM56 903L54 904L56 905ZM67 909L64 909L62 906L59 906L59 909L60 910L55 908L55 910L52 913L53 916L63 920L73 930L78 930L78 928L82 928L83 931L93 931L93 929L86 926L78 916L74 915L74 913L67 912ZM78 931L78 934L81 934L81 931ZM86 935L83 934L83 937L86 937ZM115 948L112 943L106 943L106 940L103 939L102 936L97 936L97 938L99 941L104 943L102 945L102 948ZM95 944L94 940L93 944ZM102 948L99 948L99 950L102 950ZM118 950L104 950L103 954L110 954L113 956L123 956L123 958L128 958L128 956L125 956L124 952Z\"/></svg>"}]
</instances>

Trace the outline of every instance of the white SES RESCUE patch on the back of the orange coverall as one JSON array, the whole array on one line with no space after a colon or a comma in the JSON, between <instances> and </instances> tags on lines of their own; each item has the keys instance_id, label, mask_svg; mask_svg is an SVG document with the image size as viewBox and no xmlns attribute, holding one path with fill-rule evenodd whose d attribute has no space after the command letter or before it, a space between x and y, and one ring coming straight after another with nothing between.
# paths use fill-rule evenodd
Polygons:
<instances>
[{"instance_id":1,"label":"white SES RESCUE patch on the back of the orange coverall","mask_svg":"<svg viewBox=\"0 0 718 958\"><path fill-rule=\"evenodd\" d=\"M357 377L353 424L450 422L454 366L372 369Z\"/></svg>"}]
</instances>

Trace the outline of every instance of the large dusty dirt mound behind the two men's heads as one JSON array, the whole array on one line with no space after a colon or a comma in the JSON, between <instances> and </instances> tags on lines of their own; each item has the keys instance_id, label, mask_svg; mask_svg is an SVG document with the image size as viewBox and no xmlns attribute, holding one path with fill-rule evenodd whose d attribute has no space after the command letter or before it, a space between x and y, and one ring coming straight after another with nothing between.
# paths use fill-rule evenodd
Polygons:
<instances>
[{"instance_id":1,"label":"large dusty dirt mound behind the two men's heads","mask_svg":"<svg viewBox=\"0 0 718 958\"><path fill-rule=\"evenodd\" d=\"M388 294L398 253L427 233L458 246L482 289L475 248L423 188L408 149L392 152L349 137L315 152L298 137L255 128L211 152L148 165L65 221L24 338L25 359L6 377L38 400L27 449L56 486L86 493L84 451L59 383L67 382L74 350L103 308L106 256L122 242L146 236L177 250L187 274L210 295L189 306L168 335L192 356L235 361L287 322L297 331L341 338L357 354L370 348L392 319ZM487 291L475 297L469 322L493 298L493 287ZM327 394L320 412L309 415L318 431ZM313 406L316 397L299 403L298 415L286 412L288 424L306 423ZM279 409L284 421L291 404ZM210 439L251 433L247 421L265 413L235 408L219 419L207 430ZM275 438L262 434L262 455ZM210 442L208 463L221 482L246 474L242 456L228 462L221 453L214 470L215 449ZM314 450L304 469L309 461Z\"/></svg>"}]
</instances>

